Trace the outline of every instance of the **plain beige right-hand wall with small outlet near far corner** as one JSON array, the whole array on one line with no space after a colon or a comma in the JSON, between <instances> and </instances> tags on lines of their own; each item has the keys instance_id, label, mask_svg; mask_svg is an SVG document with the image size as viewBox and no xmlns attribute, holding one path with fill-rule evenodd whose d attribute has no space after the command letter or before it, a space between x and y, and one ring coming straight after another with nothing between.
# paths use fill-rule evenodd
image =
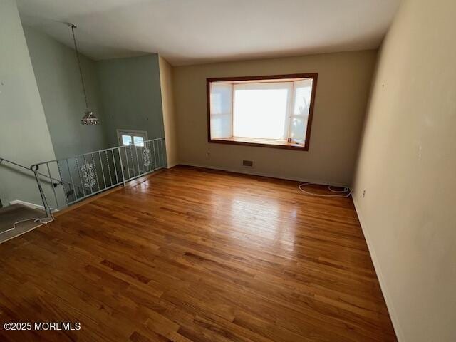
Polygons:
<instances>
[{"instance_id":1,"label":"plain beige right-hand wall with small outlet near far corner","mask_svg":"<svg viewBox=\"0 0 456 342\"><path fill-rule=\"evenodd\" d=\"M400 341L456 341L455 16L454 0L401 7L356 172L353 198Z\"/></svg>"}]
</instances>

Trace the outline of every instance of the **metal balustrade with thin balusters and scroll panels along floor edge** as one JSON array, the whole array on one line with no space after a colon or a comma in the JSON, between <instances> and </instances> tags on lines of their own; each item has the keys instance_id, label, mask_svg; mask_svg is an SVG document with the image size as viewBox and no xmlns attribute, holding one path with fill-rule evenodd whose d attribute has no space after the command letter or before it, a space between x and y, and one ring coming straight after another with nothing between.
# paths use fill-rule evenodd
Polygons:
<instances>
[{"instance_id":1,"label":"metal balustrade with thin balusters and scroll panels along floor edge","mask_svg":"<svg viewBox=\"0 0 456 342\"><path fill-rule=\"evenodd\" d=\"M165 138L156 138L38 162L31 165L30 170L35 175L46 217L53 219L53 209L61 209L110 188L125 185L166 165ZM58 182L58 185L46 185L46 182L52 181Z\"/></svg>"}]
</instances>

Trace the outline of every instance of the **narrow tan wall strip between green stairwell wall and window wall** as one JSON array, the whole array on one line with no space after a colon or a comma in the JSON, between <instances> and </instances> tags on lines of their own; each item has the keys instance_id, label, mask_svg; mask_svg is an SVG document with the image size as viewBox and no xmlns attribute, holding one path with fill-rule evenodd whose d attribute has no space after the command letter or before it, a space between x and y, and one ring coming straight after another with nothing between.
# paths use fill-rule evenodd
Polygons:
<instances>
[{"instance_id":1,"label":"narrow tan wall strip between green stairwell wall and window wall","mask_svg":"<svg viewBox=\"0 0 456 342\"><path fill-rule=\"evenodd\" d=\"M162 91L163 125L165 128L166 157L168 167L178 164L177 161L177 132L174 108L172 81L172 66L165 58L159 57L160 88Z\"/></svg>"}]
</instances>

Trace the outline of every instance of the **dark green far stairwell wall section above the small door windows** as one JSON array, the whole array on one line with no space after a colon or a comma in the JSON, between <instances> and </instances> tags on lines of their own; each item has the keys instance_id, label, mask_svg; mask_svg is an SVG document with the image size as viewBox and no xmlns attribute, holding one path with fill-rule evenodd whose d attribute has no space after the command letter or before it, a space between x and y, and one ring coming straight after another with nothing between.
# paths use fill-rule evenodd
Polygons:
<instances>
[{"instance_id":1,"label":"dark green far stairwell wall section above the small door windows","mask_svg":"<svg viewBox=\"0 0 456 342\"><path fill-rule=\"evenodd\" d=\"M98 61L97 70L108 144L119 144L117 129L164 137L158 55Z\"/></svg>"}]
</instances>

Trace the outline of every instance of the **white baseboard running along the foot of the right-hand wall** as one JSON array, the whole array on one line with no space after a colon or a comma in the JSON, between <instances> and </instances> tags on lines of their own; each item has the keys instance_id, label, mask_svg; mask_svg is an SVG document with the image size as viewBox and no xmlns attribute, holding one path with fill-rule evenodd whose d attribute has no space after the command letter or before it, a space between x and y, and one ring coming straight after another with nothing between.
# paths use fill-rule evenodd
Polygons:
<instances>
[{"instance_id":1,"label":"white baseboard running along the foot of the right-hand wall","mask_svg":"<svg viewBox=\"0 0 456 342\"><path fill-rule=\"evenodd\" d=\"M380 283L380 289L383 294L383 298L385 299L386 307L388 308L388 314L390 314L391 322L393 323L393 328L396 333L396 337L398 338L399 342L404 342L405 338L403 336L403 332L400 329L398 315L394 309L393 301L389 295L388 289L385 283L385 277L380 269L380 262L378 261L377 255L375 254L375 249L373 248L373 243L371 237L368 234L368 229L366 228L366 223L363 220L363 216L361 215L360 210L358 209L359 206L357 204L357 200L355 196L352 196L353 204L355 205L356 214L358 214L359 223L361 224L361 229L363 230L364 239L368 245L369 254L371 254L371 259L373 262L373 267L375 269L375 274L377 274L378 282Z\"/></svg>"}]
</instances>

